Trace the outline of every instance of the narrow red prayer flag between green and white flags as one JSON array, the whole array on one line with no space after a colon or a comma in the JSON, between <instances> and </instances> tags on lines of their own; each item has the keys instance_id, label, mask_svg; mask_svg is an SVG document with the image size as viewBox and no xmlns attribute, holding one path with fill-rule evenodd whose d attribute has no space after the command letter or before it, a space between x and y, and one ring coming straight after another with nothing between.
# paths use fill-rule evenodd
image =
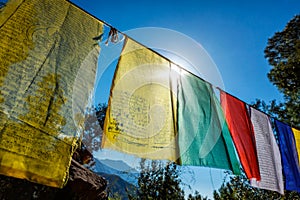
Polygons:
<instances>
[{"instance_id":1,"label":"narrow red prayer flag between green and white flags","mask_svg":"<svg viewBox=\"0 0 300 200\"><path fill-rule=\"evenodd\" d=\"M248 179L261 179L253 126L247 107L241 100L220 90L221 105L235 144L240 162Z\"/></svg>"}]
</instances>

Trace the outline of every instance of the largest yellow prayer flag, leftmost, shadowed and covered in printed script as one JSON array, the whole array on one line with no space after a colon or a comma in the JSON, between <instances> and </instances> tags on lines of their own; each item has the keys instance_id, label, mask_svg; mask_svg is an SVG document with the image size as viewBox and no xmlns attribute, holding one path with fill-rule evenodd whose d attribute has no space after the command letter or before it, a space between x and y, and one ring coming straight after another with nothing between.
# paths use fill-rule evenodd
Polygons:
<instances>
[{"instance_id":1,"label":"largest yellow prayer flag, leftmost, shadowed and covered in printed script","mask_svg":"<svg viewBox=\"0 0 300 200\"><path fill-rule=\"evenodd\" d=\"M64 186L101 33L65 0L10 0L1 10L0 174Z\"/></svg>"}]
</instances>

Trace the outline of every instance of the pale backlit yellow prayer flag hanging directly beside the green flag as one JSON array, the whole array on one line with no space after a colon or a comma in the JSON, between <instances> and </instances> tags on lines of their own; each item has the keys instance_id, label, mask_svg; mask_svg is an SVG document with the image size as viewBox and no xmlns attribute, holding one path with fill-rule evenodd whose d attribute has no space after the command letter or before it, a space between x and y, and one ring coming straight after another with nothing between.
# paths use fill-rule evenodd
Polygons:
<instances>
[{"instance_id":1,"label":"pale backlit yellow prayer flag hanging directly beside the green flag","mask_svg":"<svg viewBox=\"0 0 300 200\"><path fill-rule=\"evenodd\" d=\"M169 61L126 38L111 88L102 147L175 161L175 77Z\"/></svg>"}]
</instances>

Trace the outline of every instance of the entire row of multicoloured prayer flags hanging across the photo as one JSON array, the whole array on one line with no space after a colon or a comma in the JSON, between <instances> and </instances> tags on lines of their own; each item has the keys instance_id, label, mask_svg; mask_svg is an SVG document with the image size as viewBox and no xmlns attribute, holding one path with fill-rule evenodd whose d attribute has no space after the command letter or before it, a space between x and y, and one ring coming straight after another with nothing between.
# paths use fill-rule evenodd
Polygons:
<instances>
[{"instance_id":1,"label":"entire row of multicoloured prayer flags hanging across the photo","mask_svg":"<svg viewBox=\"0 0 300 200\"><path fill-rule=\"evenodd\" d=\"M10 0L1 9L0 174L66 184L102 26L65 0ZM300 131L275 120L279 148L266 114L250 108L249 118L244 102L224 91L220 98L221 105L209 83L126 37L102 147L240 174L235 145L252 186L283 194L283 167L285 189L300 192Z\"/></svg>"}]
</instances>

